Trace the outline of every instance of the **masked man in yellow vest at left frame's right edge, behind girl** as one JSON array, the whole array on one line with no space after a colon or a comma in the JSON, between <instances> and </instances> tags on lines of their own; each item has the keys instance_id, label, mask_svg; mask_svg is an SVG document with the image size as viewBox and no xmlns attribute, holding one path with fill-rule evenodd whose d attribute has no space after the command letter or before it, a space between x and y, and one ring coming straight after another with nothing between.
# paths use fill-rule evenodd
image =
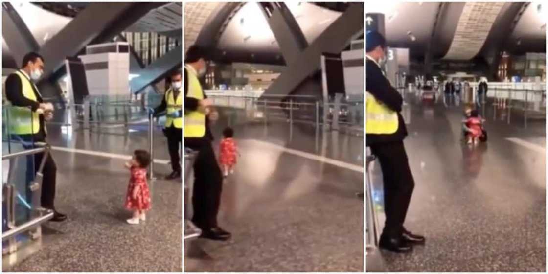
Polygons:
<instances>
[{"instance_id":1,"label":"masked man in yellow vest at left frame's right edge, behind girl","mask_svg":"<svg viewBox=\"0 0 548 274\"><path fill-rule=\"evenodd\" d=\"M171 87L165 92L162 104L154 110L155 116L165 111L164 134L168 138L169 157L173 172L165 179L181 178L179 144L182 143L182 72L175 70L170 75Z\"/></svg>"}]
</instances>

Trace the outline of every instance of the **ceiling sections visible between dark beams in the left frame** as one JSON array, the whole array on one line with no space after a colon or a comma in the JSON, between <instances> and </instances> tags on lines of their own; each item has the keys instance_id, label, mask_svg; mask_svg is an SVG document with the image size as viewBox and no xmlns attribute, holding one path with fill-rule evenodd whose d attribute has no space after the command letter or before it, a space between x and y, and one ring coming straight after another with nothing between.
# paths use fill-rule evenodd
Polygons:
<instances>
[{"instance_id":1,"label":"ceiling sections visible between dark beams in the left frame","mask_svg":"<svg viewBox=\"0 0 548 274\"><path fill-rule=\"evenodd\" d=\"M18 2L12 3L12 6L31 31L36 42L42 46L89 4L85 2ZM181 29L182 4L173 2L151 10L128 27L126 31L157 32L161 35L180 39ZM17 62L13 59L9 46L5 43L3 37L2 49L2 66L4 68L15 67Z\"/></svg>"}]
</instances>

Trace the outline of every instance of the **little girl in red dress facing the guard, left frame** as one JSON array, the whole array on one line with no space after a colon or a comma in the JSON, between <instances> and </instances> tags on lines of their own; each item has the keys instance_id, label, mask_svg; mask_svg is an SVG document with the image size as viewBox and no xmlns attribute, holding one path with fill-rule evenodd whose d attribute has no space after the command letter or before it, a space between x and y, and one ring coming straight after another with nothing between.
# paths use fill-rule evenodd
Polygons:
<instances>
[{"instance_id":1,"label":"little girl in red dress facing the guard, left frame","mask_svg":"<svg viewBox=\"0 0 548 274\"><path fill-rule=\"evenodd\" d=\"M131 170L132 174L125 195L125 208L133 211L133 217L127 220L132 225L139 224L139 220L144 221L145 211L150 209L151 199L146 182L146 168L150 162L149 152L136 150L131 161L125 163L125 167Z\"/></svg>"}]
</instances>

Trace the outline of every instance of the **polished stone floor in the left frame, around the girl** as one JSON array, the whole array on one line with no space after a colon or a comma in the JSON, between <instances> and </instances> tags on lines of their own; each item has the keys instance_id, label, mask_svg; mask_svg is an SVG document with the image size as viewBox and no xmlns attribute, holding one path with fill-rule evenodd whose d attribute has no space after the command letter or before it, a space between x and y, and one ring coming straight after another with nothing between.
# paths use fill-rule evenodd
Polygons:
<instances>
[{"instance_id":1,"label":"polished stone floor in the left frame, around the girl","mask_svg":"<svg viewBox=\"0 0 548 274\"><path fill-rule=\"evenodd\" d=\"M54 146L121 155L147 149L145 132L48 129ZM155 136L155 158L169 159L162 133ZM129 173L123 159L58 150L53 157L56 208L68 220L44 225L42 249L10 271L182 271L181 181L149 182L152 209L144 224L132 226L125 222L131 213L124 209ZM155 172L163 176L170 168L156 164Z\"/></svg>"}]
</instances>

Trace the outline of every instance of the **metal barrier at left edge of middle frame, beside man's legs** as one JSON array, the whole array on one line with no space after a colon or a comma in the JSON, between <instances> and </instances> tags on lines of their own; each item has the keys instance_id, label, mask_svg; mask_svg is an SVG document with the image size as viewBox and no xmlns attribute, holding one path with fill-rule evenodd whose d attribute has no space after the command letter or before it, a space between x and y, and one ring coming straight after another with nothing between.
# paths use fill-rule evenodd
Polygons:
<instances>
[{"instance_id":1,"label":"metal barrier at left edge of middle frame, beside man's legs","mask_svg":"<svg viewBox=\"0 0 548 274\"><path fill-rule=\"evenodd\" d=\"M196 161L197 151L185 148L185 242L199 237L202 231L190 221L190 209L192 208L192 187L194 186L193 166Z\"/></svg>"}]
</instances>

